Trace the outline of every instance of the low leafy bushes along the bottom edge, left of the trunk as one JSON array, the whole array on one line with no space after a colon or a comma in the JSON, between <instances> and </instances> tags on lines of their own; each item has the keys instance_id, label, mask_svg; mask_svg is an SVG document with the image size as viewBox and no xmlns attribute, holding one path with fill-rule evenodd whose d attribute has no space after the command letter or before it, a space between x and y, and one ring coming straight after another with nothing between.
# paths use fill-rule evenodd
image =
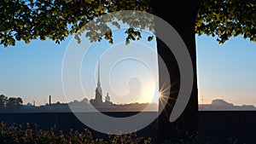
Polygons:
<instances>
[{"instance_id":1,"label":"low leafy bushes along the bottom edge, left of the trunk","mask_svg":"<svg viewBox=\"0 0 256 144\"><path fill-rule=\"evenodd\" d=\"M144 139L137 137L136 133L127 135L108 135L108 141L103 139L94 139L90 130L85 129L84 132L70 130L65 135L61 130L57 131L55 128L50 130L38 130L29 124L25 127L22 125L11 125L0 123L0 141L3 144L15 143L45 143L45 144L149 144L151 139Z\"/></svg>"}]
</instances>

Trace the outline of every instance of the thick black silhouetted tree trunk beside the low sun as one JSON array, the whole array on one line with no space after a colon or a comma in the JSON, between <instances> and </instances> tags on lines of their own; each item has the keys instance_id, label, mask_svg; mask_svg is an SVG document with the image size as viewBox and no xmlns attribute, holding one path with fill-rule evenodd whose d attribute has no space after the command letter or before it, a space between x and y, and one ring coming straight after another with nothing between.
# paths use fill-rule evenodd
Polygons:
<instances>
[{"instance_id":1,"label":"thick black silhouetted tree trunk beside the low sun","mask_svg":"<svg viewBox=\"0 0 256 144\"><path fill-rule=\"evenodd\" d=\"M169 3L172 4L169 4ZM173 123L169 121L172 108L175 105L173 99L168 100L168 104L160 113L158 118L158 143L163 143L166 140L178 139L183 134L193 135L198 131L198 92L196 78L196 49L195 49L195 16L199 7L199 0L195 1L156 1L153 0L154 14L166 20L179 35L183 38L186 44L189 55L192 60L194 82L190 95L189 103L182 115ZM157 26L156 26L157 27ZM157 33L157 29L155 30ZM170 39L172 41L172 39ZM180 72L177 65L177 60L172 54L172 51L165 43L157 39L158 54L165 61L167 69L170 73L172 82L172 92L169 97L177 99L177 94L180 89ZM159 70L161 71L161 69ZM160 72L161 73L161 72ZM164 77L160 78L160 88L164 85ZM175 84L174 84L175 83ZM160 107L161 108L161 107ZM183 134L181 134L182 132Z\"/></svg>"}]
</instances>

